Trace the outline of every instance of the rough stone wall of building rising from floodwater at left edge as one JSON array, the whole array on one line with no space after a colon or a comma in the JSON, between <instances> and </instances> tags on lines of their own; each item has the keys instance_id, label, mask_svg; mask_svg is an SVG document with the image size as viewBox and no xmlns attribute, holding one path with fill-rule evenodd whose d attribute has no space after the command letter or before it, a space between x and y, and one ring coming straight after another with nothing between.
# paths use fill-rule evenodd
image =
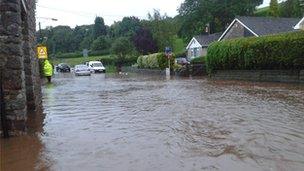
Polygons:
<instances>
[{"instance_id":1,"label":"rough stone wall of building rising from floodwater at left edge","mask_svg":"<svg viewBox=\"0 0 304 171\"><path fill-rule=\"evenodd\" d=\"M36 110L41 105L41 85L35 51L36 2L23 2L0 0L1 86L4 90L5 119L10 134L26 131L28 113L33 113L29 111Z\"/></svg>"}]
</instances>

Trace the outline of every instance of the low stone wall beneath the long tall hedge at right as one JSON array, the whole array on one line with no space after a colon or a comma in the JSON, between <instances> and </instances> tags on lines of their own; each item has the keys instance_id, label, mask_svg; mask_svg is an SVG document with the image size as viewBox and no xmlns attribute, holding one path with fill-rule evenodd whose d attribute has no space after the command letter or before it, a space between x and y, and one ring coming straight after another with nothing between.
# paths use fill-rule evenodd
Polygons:
<instances>
[{"instance_id":1,"label":"low stone wall beneath the long tall hedge at right","mask_svg":"<svg viewBox=\"0 0 304 171\"><path fill-rule=\"evenodd\" d=\"M211 74L213 79L304 83L304 70L225 70Z\"/></svg>"}]
</instances>

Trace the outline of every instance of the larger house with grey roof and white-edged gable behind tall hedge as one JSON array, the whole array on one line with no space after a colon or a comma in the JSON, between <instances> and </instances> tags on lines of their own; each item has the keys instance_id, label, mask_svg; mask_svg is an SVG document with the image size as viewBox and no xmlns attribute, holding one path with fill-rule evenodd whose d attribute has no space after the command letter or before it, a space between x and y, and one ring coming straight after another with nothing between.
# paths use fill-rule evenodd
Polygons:
<instances>
[{"instance_id":1,"label":"larger house with grey roof and white-edged gable behind tall hedge","mask_svg":"<svg viewBox=\"0 0 304 171\"><path fill-rule=\"evenodd\" d=\"M292 32L295 31L299 20L299 18L236 17L218 40ZM303 21L300 23L303 24Z\"/></svg>"}]
</instances>

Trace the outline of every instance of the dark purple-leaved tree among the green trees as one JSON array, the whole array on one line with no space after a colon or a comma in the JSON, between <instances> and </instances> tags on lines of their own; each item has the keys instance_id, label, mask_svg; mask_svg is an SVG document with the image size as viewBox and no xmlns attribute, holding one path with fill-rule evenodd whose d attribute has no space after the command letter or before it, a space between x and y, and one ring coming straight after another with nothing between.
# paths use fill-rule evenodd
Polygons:
<instances>
[{"instance_id":1,"label":"dark purple-leaved tree among the green trees","mask_svg":"<svg viewBox=\"0 0 304 171\"><path fill-rule=\"evenodd\" d=\"M136 50L143 55L158 52L156 41L153 39L152 33L148 29L140 28L137 30L136 34L133 36L133 43Z\"/></svg>"}]
</instances>

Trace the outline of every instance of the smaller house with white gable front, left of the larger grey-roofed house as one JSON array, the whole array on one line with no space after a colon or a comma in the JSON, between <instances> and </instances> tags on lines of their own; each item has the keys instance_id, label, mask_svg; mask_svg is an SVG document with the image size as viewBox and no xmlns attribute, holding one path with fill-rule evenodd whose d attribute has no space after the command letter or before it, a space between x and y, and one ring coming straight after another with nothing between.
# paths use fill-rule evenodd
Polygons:
<instances>
[{"instance_id":1,"label":"smaller house with white gable front, left of the larger grey-roofed house","mask_svg":"<svg viewBox=\"0 0 304 171\"><path fill-rule=\"evenodd\" d=\"M193 37L186 48L188 59L206 56L208 46L217 41L221 35L222 33L214 33Z\"/></svg>"}]
</instances>

